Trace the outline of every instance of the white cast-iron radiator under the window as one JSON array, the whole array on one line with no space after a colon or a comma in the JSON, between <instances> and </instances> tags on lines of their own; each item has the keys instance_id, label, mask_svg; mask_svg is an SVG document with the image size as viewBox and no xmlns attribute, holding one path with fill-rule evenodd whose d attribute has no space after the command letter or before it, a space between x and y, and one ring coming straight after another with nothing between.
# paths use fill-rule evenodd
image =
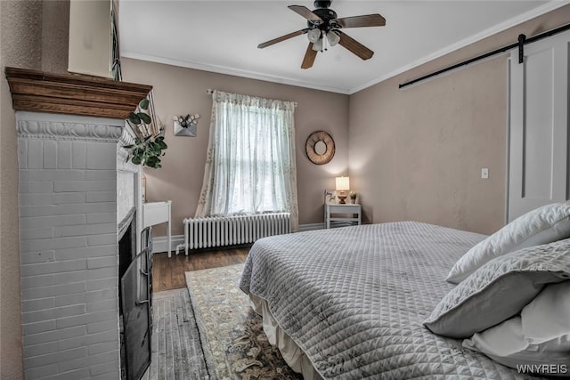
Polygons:
<instances>
[{"instance_id":1,"label":"white cast-iron radiator under the window","mask_svg":"<svg viewBox=\"0 0 570 380\"><path fill-rule=\"evenodd\" d=\"M183 223L184 244L176 251L184 247L186 255L189 249L248 244L291 230L289 213L186 218Z\"/></svg>"}]
</instances>

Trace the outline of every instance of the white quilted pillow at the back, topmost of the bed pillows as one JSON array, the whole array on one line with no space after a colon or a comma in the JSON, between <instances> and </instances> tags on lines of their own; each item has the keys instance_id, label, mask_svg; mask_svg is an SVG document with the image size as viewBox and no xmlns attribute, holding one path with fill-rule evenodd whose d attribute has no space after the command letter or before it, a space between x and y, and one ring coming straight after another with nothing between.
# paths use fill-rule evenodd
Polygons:
<instances>
[{"instance_id":1,"label":"white quilted pillow at the back, topmost of the bed pillows","mask_svg":"<svg viewBox=\"0 0 570 380\"><path fill-rule=\"evenodd\" d=\"M493 258L570 237L570 204L553 203L534 209L509 222L463 255L445 278L454 284L467 279Z\"/></svg>"}]
</instances>

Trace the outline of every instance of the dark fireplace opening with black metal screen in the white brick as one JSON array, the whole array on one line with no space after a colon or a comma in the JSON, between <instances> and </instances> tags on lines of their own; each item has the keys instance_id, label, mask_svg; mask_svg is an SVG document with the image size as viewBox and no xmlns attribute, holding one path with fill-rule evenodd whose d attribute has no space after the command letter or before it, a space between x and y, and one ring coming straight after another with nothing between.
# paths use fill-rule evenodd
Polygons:
<instances>
[{"instance_id":1,"label":"dark fireplace opening with black metal screen in the white brick","mask_svg":"<svg viewBox=\"0 0 570 380\"><path fill-rule=\"evenodd\" d=\"M134 210L119 224L119 328L121 379L138 380L151 363L151 245L142 231L142 251L136 253Z\"/></svg>"}]
</instances>

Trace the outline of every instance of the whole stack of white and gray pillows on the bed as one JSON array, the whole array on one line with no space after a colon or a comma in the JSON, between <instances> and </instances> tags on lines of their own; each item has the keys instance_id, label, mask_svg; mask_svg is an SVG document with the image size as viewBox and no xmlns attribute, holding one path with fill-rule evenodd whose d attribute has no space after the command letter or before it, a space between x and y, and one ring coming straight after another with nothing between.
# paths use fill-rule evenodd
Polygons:
<instances>
[{"instance_id":1,"label":"whole stack of white and gray pillows on the bed","mask_svg":"<svg viewBox=\"0 0 570 380\"><path fill-rule=\"evenodd\" d=\"M508 367L535 365L539 373L567 376L569 237L567 202L510 222L453 265L446 280L459 285L424 325L441 336L467 338L465 347Z\"/></svg>"}]
</instances>

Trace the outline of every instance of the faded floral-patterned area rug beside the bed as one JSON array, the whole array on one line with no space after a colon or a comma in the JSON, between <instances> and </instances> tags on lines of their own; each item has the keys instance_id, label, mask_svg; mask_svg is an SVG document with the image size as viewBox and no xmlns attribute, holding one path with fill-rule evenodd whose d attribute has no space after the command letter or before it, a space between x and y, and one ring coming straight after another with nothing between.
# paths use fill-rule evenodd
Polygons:
<instances>
[{"instance_id":1,"label":"faded floral-patterned area rug beside the bed","mask_svg":"<svg viewBox=\"0 0 570 380\"><path fill-rule=\"evenodd\" d=\"M267 341L262 319L238 287L243 264L187 271L202 348L216 378L302 379Z\"/></svg>"}]
</instances>

